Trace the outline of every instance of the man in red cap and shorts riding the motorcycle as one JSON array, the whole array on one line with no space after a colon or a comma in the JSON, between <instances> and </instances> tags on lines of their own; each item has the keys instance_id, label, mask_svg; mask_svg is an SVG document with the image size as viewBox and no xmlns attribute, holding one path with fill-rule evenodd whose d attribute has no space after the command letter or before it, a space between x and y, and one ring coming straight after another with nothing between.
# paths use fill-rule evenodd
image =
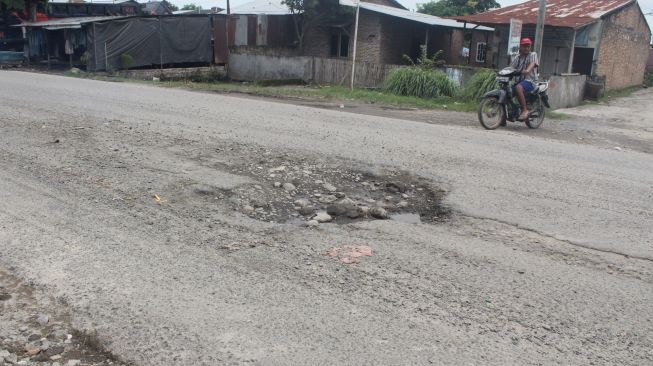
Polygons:
<instances>
[{"instance_id":1,"label":"man in red cap and shorts riding the motorcycle","mask_svg":"<svg viewBox=\"0 0 653 366\"><path fill-rule=\"evenodd\" d=\"M525 121L528 119L528 107L526 106L526 95L535 89L538 75L536 68L539 66L537 53L531 52L533 42L529 38L524 38L519 42L519 54L512 60L510 67L520 70L521 77L519 82L513 86L513 94L517 95L521 114L518 120Z\"/></svg>"}]
</instances>

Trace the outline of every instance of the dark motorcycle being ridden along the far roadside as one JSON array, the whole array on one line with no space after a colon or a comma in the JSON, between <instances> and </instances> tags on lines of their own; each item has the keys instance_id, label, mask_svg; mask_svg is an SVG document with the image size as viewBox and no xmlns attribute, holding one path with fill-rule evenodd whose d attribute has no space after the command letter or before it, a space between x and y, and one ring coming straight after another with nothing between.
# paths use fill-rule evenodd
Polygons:
<instances>
[{"instance_id":1,"label":"dark motorcycle being ridden along the far roadside","mask_svg":"<svg viewBox=\"0 0 653 366\"><path fill-rule=\"evenodd\" d=\"M510 81L521 76L521 72L512 67L506 67L497 73L496 81L499 83L499 89L486 93L481 99L478 109L478 120L481 125L488 130L494 130L499 126L505 126L506 121L517 122L521 112L519 104L516 104ZM528 106L528 118L525 121L529 128L538 128L544 122L545 107L549 105L548 82L539 82L532 92L526 95L526 105Z\"/></svg>"}]
</instances>

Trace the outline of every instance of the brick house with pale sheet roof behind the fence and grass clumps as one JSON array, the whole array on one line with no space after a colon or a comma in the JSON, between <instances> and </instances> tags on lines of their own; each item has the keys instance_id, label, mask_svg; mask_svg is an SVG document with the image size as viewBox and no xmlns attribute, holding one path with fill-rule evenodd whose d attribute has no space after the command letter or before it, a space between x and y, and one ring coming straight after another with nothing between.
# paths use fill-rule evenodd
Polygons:
<instances>
[{"instance_id":1,"label":"brick house with pale sheet roof behind the fence and grass clumps","mask_svg":"<svg viewBox=\"0 0 653 366\"><path fill-rule=\"evenodd\" d=\"M340 0L340 4L351 9L350 16L327 19L307 30L305 55L351 58L353 9L358 3ZM485 57L484 49L471 55L464 55L463 49L469 47L466 37L487 44L492 32L492 28L476 24L411 12L393 0L361 1L356 59L378 65L404 64L404 55L416 59L420 47L426 45L429 55L442 51L447 64L487 66L492 60Z\"/></svg>"}]
</instances>

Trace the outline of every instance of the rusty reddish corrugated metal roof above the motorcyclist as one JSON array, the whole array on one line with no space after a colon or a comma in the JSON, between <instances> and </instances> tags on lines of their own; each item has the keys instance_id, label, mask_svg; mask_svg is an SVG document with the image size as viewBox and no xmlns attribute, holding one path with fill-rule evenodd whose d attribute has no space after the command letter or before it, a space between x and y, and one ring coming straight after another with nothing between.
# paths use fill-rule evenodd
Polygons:
<instances>
[{"instance_id":1,"label":"rusty reddish corrugated metal roof above the motorcyclist","mask_svg":"<svg viewBox=\"0 0 653 366\"><path fill-rule=\"evenodd\" d=\"M578 28L592 23L636 0L548 0L546 25L553 27ZM529 0L521 4L506 6L455 19L478 24L509 24L510 19L521 19L524 24L537 24L539 1Z\"/></svg>"}]
</instances>

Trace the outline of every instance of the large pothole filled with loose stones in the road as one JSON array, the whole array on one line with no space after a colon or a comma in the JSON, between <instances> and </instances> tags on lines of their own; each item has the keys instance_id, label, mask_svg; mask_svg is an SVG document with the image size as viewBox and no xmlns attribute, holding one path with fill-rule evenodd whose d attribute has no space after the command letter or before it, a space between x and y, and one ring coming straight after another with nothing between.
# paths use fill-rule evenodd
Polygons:
<instances>
[{"instance_id":1,"label":"large pothole filled with loose stones in the road","mask_svg":"<svg viewBox=\"0 0 653 366\"><path fill-rule=\"evenodd\" d=\"M446 220L446 192L401 171L364 172L344 164L261 159L221 170L248 175L259 184L220 191L220 199L251 218L291 225L348 224L363 220L434 223ZM194 194L208 198L207 188Z\"/></svg>"}]
</instances>

